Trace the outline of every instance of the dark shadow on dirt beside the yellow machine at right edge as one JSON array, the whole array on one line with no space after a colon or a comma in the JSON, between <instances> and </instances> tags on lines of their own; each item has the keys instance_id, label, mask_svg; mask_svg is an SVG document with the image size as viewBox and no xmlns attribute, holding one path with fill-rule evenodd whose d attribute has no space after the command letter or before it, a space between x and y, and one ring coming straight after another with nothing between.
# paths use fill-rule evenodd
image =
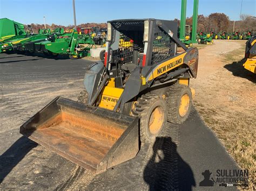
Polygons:
<instances>
[{"instance_id":1,"label":"dark shadow on dirt beside the yellow machine at right edge","mask_svg":"<svg viewBox=\"0 0 256 191\"><path fill-rule=\"evenodd\" d=\"M232 72L234 76L242 77L247 80L250 80L251 82L256 83L255 74L253 74L249 70L245 69L244 66L242 66L244 62L245 60L242 59L238 62L228 63L224 66L224 68Z\"/></svg>"}]
</instances>

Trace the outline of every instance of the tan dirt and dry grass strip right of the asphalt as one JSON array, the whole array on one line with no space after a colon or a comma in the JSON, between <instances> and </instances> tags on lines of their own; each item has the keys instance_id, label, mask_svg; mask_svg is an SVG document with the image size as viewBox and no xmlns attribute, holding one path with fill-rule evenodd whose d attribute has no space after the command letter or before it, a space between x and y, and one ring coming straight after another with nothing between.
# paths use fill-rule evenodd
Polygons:
<instances>
[{"instance_id":1,"label":"tan dirt and dry grass strip right of the asphalt","mask_svg":"<svg viewBox=\"0 0 256 191\"><path fill-rule=\"evenodd\" d=\"M199 114L238 165L250 169L252 186L256 170L256 75L242 67L244 51L245 41L226 40L215 40L214 45L200 49L198 78L191 80L191 86L196 89L194 105Z\"/></svg>"}]
</instances>

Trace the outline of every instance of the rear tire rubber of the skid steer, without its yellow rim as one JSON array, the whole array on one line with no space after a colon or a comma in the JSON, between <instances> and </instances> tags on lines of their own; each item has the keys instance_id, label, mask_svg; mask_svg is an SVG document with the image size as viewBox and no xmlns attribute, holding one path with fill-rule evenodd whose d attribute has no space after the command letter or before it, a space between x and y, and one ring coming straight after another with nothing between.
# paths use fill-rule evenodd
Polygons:
<instances>
[{"instance_id":1,"label":"rear tire rubber of the skid steer, without its yellow rim","mask_svg":"<svg viewBox=\"0 0 256 191\"><path fill-rule=\"evenodd\" d=\"M181 97L187 94L190 98L190 102L188 105L188 109L185 116L180 116L179 114L179 105ZM166 102L168 108L168 117L167 121L174 124L181 124L186 121L188 115L190 114L191 106L192 106L192 93L189 86L183 84L174 84L169 88L166 93Z\"/></svg>"}]
</instances>

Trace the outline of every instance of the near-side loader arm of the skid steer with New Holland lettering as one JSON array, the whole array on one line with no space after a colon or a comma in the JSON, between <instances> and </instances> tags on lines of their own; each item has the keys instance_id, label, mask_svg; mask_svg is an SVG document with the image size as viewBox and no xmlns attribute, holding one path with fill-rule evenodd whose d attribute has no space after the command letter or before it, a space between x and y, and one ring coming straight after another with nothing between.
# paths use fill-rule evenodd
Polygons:
<instances>
[{"instance_id":1,"label":"near-side loader arm of the skid steer with New Holland lettering","mask_svg":"<svg viewBox=\"0 0 256 191\"><path fill-rule=\"evenodd\" d=\"M179 68L183 66L182 68ZM178 69L177 69L178 68ZM174 77L181 74L185 74L189 71L190 77L197 77L198 69L198 49L190 48L184 53L177 54L171 59L167 59L160 62L157 66L142 68L140 73L140 68L134 69L129 80L126 82L123 94L120 96L114 111L123 112L124 104L136 97L143 90L150 88L154 81L164 74L166 79L160 81L160 83L172 80ZM175 72L174 72L175 71ZM145 75L144 75L145 74ZM143 84L143 78L145 79L145 84Z\"/></svg>"}]
</instances>

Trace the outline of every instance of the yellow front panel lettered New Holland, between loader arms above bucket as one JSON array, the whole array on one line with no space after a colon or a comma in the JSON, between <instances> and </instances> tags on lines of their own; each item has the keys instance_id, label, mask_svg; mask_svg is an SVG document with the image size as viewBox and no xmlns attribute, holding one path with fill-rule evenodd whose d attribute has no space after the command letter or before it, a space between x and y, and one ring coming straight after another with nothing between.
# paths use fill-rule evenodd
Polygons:
<instances>
[{"instance_id":1,"label":"yellow front panel lettered New Holland, between loader arms above bucket","mask_svg":"<svg viewBox=\"0 0 256 191\"><path fill-rule=\"evenodd\" d=\"M100 100L99 107L113 110L122 95L124 89L106 86L103 90L102 100Z\"/></svg>"}]
</instances>

